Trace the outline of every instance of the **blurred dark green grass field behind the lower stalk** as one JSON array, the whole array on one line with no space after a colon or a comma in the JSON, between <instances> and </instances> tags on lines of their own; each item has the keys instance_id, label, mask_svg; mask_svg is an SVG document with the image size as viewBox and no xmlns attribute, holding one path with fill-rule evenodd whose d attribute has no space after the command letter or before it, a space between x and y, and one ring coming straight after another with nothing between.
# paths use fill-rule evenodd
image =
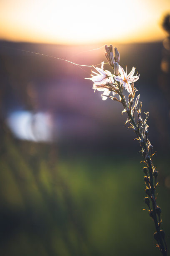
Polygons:
<instances>
[{"instance_id":1,"label":"blurred dark green grass field behind the lower stalk","mask_svg":"<svg viewBox=\"0 0 170 256\"><path fill-rule=\"evenodd\" d=\"M133 150L133 149L132 149ZM123 156L60 156L56 145L5 133L0 161L0 251L4 256L160 255L144 204L143 164ZM155 159L156 160L156 159ZM168 245L168 165L158 204Z\"/></svg>"}]
</instances>

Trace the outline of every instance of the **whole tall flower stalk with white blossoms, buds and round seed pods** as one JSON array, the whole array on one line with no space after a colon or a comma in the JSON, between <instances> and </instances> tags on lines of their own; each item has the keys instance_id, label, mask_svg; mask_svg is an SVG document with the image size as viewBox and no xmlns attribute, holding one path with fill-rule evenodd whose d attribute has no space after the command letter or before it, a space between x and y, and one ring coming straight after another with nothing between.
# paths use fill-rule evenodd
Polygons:
<instances>
[{"instance_id":1,"label":"whole tall flower stalk with white blossoms, buds and round seed pods","mask_svg":"<svg viewBox=\"0 0 170 256\"><path fill-rule=\"evenodd\" d=\"M127 75L127 72L119 65L120 54L115 48L115 56L113 54L113 47L105 46L105 56L112 67L114 74L111 74L108 70L103 70L103 64L101 69L95 68L99 74L92 71L92 78L89 78L94 82L93 89L98 91L103 91L102 100L106 100L110 98L112 100L118 101L122 103L124 110L128 114L128 119L126 123L130 124L130 128L133 128L133 131L136 134L136 139L139 141L141 146L141 152L143 156L143 162L145 163L145 167L143 168L143 172L145 174L144 182L146 184L146 195L145 204L148 205L149 215L153 219L155 224L156 232L154 233L154 238L157 241L157 247L160 249L160 252L163 256L167 256L167 246L165 242L165 233L163 230L160 230L160 224L162 222L161 208L157 205L155 198L155 189L158 185L157 176L158 172L155 170L155 166L153 164L153 146L148 140L148 125L147 120L149 113L146 114L145 120L142 118L142 102L139 102L140 95L135 98L135 93L138 91L134 87L134 82L139 79L139 74L135 73L135 68L133 67L131 72ZM94 75L96 74L96 75ZM100 82L99 82L100 81ZM123 90L127 90L128 100L126 100ZM110 96L110 92L112 94L118 95L117 97ZM134 104L135 102L135 104ZM155 182L154 182L155 179ZM150 201L152 204L150 205Z\"/></svg>"}]
</instances>

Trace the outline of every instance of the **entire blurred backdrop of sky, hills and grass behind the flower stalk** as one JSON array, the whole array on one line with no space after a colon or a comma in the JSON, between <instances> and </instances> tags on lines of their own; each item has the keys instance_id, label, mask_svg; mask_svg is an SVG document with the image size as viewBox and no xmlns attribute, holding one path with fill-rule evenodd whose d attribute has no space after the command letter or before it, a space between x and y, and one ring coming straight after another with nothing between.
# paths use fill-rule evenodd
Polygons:
<instances>
[{"instance_id":1,"label":"entire blurred backdrop of sky, hills and grass behind the flower stalk","mask_svg":"<svg viewBox=\"0 0 170 256\"><path fill-rule=\"evenodd\" d=\"M122 105L94 94L90 67L61 60L100 64L105 44L140 73L170 248L168 13L169 0L1 0L2 256L160 255Z\"/></svg>"}]
</instances>

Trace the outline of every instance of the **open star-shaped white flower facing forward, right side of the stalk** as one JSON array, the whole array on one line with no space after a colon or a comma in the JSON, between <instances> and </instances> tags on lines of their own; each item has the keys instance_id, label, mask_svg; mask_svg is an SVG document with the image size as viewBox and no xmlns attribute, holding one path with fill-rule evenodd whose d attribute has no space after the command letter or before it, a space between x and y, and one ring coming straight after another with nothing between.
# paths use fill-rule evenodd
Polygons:
<instances>
[{"instance_id":1,"label":"open star-shaped white flower facing forward, right side of the stalk","mask_svg":"<svg viewBox=\"0 0 170 256\"><path fill-rule=\"evenodd\" d=\"M130 73L127 75L126 72L124 71L124 69L119 65L119 72L120 72L121 77L117 76L117 77L115 77L115 80L122 82L125 89L127 89L127 91L129 93L132 93L132 87L131 87L130 83L136 82L139 79L139 75L133 77L133 74L135 73L135 68L133 67L132 70L130 71Z\"/></svg>"}]
</instances>

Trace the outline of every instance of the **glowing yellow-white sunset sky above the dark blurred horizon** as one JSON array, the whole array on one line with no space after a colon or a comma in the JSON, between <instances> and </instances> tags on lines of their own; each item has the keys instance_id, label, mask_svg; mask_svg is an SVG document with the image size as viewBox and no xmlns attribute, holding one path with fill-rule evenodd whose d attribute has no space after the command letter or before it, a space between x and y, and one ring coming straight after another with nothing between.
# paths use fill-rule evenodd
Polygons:
<instances>
[{"instance_id":1,"label":"glowing yellow-white sunset sky above the dark blurred horizon","mask_svg":"<svg viewBox=\"0 0 170 256\"><path fill-rule=\"evenodd\" d=\"M52 44L165 38L170 0L1 0L0 39Z\"/></svg>"}]
</instances>

